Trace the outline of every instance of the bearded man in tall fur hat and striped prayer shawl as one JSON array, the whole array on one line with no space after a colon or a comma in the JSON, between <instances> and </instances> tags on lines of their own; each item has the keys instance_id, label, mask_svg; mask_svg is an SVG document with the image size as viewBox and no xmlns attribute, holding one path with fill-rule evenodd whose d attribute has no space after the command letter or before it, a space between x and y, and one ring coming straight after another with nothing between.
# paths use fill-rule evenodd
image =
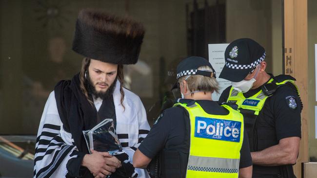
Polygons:
<instances>
[{"instance_id":1,"label":"bearded man in tall fur hat and striped prayer shawl","mask_svg":"<svg viewBox=\"0 0 317 178\"><path fill-rule=\"evenodd\" d=\"M135 64L144 28L130 19L80 11L73 50L85 58L71 81L60 81L44 107L35 151L36 178L148 177L132 157L149 132L140 98L124 89L123 64ZM122 151L89 150L82 131L112 118Z\"/></svg>"}]
</instances>

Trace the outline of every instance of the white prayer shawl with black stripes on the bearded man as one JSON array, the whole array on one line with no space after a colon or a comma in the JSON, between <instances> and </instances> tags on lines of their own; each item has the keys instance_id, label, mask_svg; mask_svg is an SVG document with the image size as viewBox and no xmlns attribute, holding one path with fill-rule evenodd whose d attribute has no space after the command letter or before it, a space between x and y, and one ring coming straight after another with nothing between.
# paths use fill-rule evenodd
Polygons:
<instances>
[{"instance_id":1,"label":"white prayer shawl with black stripes on the bearded man","mask_svg":"<svg viewBox=\"0 0 317 178\"><path fill-rule=\"evenodd\" d=\"M123 152L128 155L128 161L132 164L133 154L140 142L146 137L150 126L139 97L128 89L123 88L125 93L123 100L124 110L120 103L121 94L119 89L120 83L117 80L113 93L117 117L116 132L123 146ZM72 134L64 129L59 117L55 92L51 92L40 120L35 150L34 177L66 177L68 173L67 163L82 154L79 150L83 149L87 150L87 148L78 148L75 145ZM139 178L149 178L144 169L135 169L131 176L134 175L138 175Z\"/></svg>"}]
</instances>

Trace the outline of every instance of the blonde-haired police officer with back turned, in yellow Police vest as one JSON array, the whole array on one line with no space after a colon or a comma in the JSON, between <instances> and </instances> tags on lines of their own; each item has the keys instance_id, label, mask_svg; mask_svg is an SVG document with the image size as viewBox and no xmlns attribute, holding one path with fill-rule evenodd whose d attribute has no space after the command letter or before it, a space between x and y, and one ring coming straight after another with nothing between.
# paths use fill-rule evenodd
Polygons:
<instances>
[{"instance_id":1,"label":"blonde-haired police officer with back turned, in yellow Police vest","mask_svg":"<svg viewBox=\"0 0 317 178\"><path fill-rule=\"evenodd\" d=\"M177 79L183 99L158 117L133 165L144 168L151 162L150 172L162 178L251 178L243 116L212 101L218 83L210 63L188 57L178 64Z\"/></svg>"}]
</instances>

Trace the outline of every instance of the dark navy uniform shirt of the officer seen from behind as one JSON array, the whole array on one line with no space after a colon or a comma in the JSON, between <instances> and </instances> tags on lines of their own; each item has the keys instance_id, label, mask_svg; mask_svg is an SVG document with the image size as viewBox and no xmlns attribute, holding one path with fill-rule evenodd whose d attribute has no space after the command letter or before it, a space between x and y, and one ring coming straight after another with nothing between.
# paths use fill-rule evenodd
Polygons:
<instances>
[{"instance_id":1,"label":"dark navy uniform shirt of the officer seen from behind","mask_svg":"<svg viewBox=\"0 0 317 178\"><path fill-rule=\"evenodd\" d=\"M227 115L229 113L227 109L220 107L215 101L197 100L196 102L209 114ZM189 138L185 137L190 136L190 128L186 129L184 118L188 119L189 122L188 112L182 107L171 107L164 110L146 138L139 145L139 150L151 159L161 150L180 151L189 154L189 142L185 142ZM188 133L185 133L186 131ZM246 132L244 132L244 135L246 135ZM248 137L243 138L239 168L252 165Z\"/></svg>"}]
</instances>

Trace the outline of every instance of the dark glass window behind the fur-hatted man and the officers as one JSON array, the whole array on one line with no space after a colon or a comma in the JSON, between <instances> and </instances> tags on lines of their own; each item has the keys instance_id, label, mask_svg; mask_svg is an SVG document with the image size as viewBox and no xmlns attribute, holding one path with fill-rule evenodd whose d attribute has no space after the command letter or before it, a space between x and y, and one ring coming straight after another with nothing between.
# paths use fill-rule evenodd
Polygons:
<instances>
[{"instance_id":1,"label":"dark glass window behind the fur-hatted man and the officers","mask_svg":"<svg viewBox=\"0 0 317 178\"><path fill-rule=\"evenodd\" d=\"M253 38L266 49L268 71L282 71L278 0L0 0L0 160L29 175L21 177L33 175L49 93L80 70L83 56L71 48L78 12L86 7L144 24L139 62L124 67L125 87L140 96L150 125L180 96L170 91L178 62L188 55L208 59L209 43ZM20 176L12 170L1 167L0 176Z\"/></svg>"}]
</instances>

